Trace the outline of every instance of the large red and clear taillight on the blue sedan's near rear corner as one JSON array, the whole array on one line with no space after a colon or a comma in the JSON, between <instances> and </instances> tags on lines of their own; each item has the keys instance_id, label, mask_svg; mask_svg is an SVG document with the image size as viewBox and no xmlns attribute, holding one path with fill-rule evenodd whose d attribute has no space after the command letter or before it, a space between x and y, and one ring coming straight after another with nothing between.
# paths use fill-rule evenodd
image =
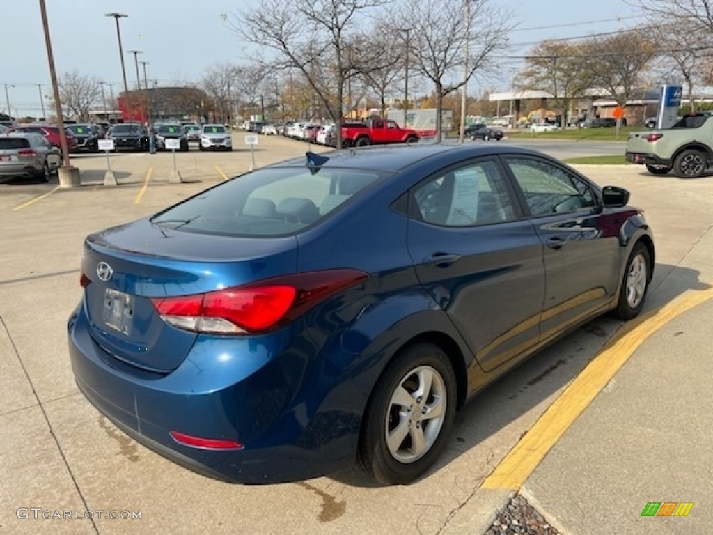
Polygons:
<instances>
[{"instance_id":1,"label":"large red and clear taillight on the blue sedan's near rear corner","mask_svg":"<svg viewBox=\"0 0 713 535\"><path fill-rule=\"evenodd\" d=\"M151 301L163 320L174 327L239 335L284 325L319 301L368 277L357 270L317 271L205 294L153 297Z\"/></svg>"}]
</instances>

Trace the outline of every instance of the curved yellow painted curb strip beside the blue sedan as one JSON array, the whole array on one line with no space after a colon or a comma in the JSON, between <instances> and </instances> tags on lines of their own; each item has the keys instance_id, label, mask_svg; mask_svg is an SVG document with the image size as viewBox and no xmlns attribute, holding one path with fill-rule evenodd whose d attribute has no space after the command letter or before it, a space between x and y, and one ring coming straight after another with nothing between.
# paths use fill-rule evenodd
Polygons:
<instances>
[{"instance_id":1,"label":"curved yellow painted curb strip beside the blue sedan","mask_svg":"<svg viewBox=\"0 0 713 535\"><path fill-rule=\"evenodd\" d=\"M687 292L628 323L555 399L481 487L518 491L550 449L647 338L674 318L713 298L713 287Z\"/></svg>"}]
</instances>

